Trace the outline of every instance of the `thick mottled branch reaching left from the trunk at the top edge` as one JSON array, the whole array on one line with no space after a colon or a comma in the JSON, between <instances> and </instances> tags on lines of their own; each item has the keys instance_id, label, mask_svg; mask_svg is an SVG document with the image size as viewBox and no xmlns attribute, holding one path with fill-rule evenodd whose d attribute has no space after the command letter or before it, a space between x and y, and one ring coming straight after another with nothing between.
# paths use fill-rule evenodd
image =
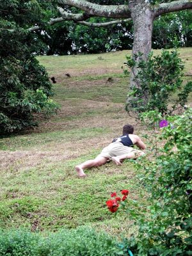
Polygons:
<instances>
[{"instance_id":1,"label":"thick mottled branch reaching left from the trunk at the top edge","mask_svg":"<svg viewBox=\"0 0 192 256\"><path fill-rule=\"evenodd\" d=\"M131 12L129 11L128 4L122 5L100 5L90 3L85 0L58 0L60 4L67 4L83 10L91 16L99 16L106 18L130 18Z\"/></svg>"}]
</instances>

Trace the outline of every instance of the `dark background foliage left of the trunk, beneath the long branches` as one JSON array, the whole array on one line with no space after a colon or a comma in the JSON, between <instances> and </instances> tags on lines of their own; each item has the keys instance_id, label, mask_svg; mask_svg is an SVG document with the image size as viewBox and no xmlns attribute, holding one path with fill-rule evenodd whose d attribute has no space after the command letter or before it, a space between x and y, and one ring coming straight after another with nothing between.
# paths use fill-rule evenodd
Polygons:
<instances>
[{"instance_id":1,"label":"dark background foliage left of the trunk, beneath the long branches","mask_svg":"<svg viewBox=\"0 0 192 256\"><path fill-rule=\"evenodd\" d=\"M127 1L90 1L97 4L126 4ZM63 7L63 6L62 6ZM74 7L66 6L65 10L77 13L79 10ZM92 17L90 22L107 22L111 19ZM39 34L39 33L38 33ZM126 24L116 24L104 28L92 28L74 22L61 22L52 26L47 35L39 38L48 45L48 55L51 54L77 54L83 53L100 53L114 50L131 49L132 22Z\"/></svg>"}]
</instances>

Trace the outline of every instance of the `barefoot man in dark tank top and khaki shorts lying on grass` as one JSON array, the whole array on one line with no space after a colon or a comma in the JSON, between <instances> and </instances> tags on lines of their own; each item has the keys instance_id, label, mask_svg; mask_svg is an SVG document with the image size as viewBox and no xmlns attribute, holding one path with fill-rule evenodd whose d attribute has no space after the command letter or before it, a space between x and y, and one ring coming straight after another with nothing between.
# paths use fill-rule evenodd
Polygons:
<instances>
[{"instance_id":1,"label":"barefoot man in dark tank top and khaki shorts lying on grass","mask_svg":"<svg viewBox=\"0 0 192 256\"><path fill-rule=\"evenodd\" d=\"M141 150L133 148L134 145L140 149L145 149L146 146L141 141L141 138L133 134L134 128L132 125L127 124L123 127L123 135L115 138L105 147L102 152L95 159L85 161L82 164L76 166L76 171L79 177L85 177L84 173L85 168L97 167L102 164L106 164L108 161L112 160L117 165L120 165L124 159L136 159L139 156L142 156L144 152Z\"/></svg>"}]
</instances>

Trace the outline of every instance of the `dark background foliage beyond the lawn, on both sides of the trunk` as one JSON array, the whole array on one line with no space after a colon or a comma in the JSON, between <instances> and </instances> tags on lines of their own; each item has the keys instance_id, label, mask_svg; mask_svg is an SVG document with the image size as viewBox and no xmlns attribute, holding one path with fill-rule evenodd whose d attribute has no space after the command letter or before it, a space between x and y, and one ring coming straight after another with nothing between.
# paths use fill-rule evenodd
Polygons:
<instances>
[{"instance_id":1,"label":"dark background foliage beyond the lawn, on both sides of the trunk","mask_svg":"<svg viewBox=\"0 0 192 256\"><path fill-rule=\"evenodd\" d=\"M128 1L116 0L92 0L96 4L127 4ZM162 1L148 1L158 4ZM164 3L170 1L163 1ZM63 7L63 6L62 6ZM80 12L79 9L65 6L65 10L72 13ZM168 13L158 17L154 21L152 48L169 49L178 41L178 47L190 47L192 45L192 13L186 10L177 13ZM111 19L92 17L88 22L107 22ZM104 28L87 27L74 22L61 22L52 26L47 35L40 36L46 45L49 45L47 54L76 54L99 53L114 50L132 49L133 28L132 22L115 24Z\"/></svg>"}]
</instances>

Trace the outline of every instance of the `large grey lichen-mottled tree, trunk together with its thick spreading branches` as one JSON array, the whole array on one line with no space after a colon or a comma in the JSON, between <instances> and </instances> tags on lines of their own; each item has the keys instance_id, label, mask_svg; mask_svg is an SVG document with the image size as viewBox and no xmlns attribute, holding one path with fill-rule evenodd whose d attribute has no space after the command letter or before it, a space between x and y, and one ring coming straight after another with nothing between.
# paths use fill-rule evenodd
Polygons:
<instances>
[{"instance_id":1,"label":"large grey lichen-mottled tree, trunk together with its thick spreading branches","mask_svg":"<svg viewBox=\"0 0 192 256\"><path fill-rule=\"evenodd\" d=\"M152 47L152 30L154 19L163 15L164 13L176 12L179 10L186 10L192 8L191 0L179 0L179 1L144 1L135 0L129 1L128 4L118 5L100 5L91 3L90 1L77 1L77 0L58 0L60 6L74 6L83 11L83 13L69 13L62 7L58 7L58 11L61 14L63 20L74 20L87 26L104 26L104 24L97 24L93 22L86 22L85 20L90 17L107 17L113 19L132 19L134 28L134 43L132 47L132 54L142 52L142 58L147 59L148 53ZM124 2L125 3L125 2ZM113 24L111 22L108 22ZM124 20L116 21L118 23L124 22ZM91 25L90 25L91 24ZM135 67L134 72L131 75L131 86L134 84L134 76L136 76L138 68Z\"/></svg>"}]
</instances>

